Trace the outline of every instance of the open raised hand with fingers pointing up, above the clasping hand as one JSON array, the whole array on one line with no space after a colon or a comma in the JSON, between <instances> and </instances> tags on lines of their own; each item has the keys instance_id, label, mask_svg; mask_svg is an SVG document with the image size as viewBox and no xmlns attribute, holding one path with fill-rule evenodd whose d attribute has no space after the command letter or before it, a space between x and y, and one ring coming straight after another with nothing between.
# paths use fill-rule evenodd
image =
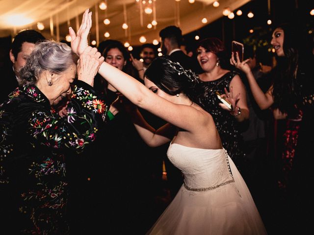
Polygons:
<instances>
[{"instance_id":1,"label":"open raised hand with fingers pointing up, above the clasping hand","mask_svg":"<svg viewBox=\"0 0 314 235\"><path fill-rule=\"evenodd\" d=\"M82 23L79 26L78 32L75 33L72 27L69 28L71 36L71 48L78 56L88 47L88 34L92 26L92 12L86 9L83 14Z\"/></svg>"}]
</instances>

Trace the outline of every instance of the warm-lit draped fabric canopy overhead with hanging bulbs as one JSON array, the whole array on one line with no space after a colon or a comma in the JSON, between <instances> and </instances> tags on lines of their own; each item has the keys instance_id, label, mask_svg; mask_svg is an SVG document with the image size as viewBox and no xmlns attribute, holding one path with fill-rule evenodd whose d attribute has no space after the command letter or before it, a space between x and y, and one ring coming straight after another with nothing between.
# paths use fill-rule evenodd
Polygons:
<instances>
[{"instance_id":1,"label":"warm-lit draped fabric canopy overhead with hanging bulbs","mask_svg":"<svg viewBox=\"0 0 314 235\"><path fill-rule=\"evenodd\" d=\"M203 27L203 18L207 18L206 24L209 24L223 16L224 8L235 11L250 0L219 0L218 7L213 7L213 1L146 0L144 4L142 0L104 0L107 8L101 10L98 7L101 0L1 0L0 37L14 37L25 28L38 30L37 23L41 22L45 28L40 32L47 39L62 40L68 34L68 26L77 30L82 13L89 8L93 12L90 40L104 41L104 34L108 32L110 39L140 45L141 36L146 37L147 43L158 40L159 31L165 26L177 25L186 34ZM146 14L145 7L153 12ZM110 24L104 24L105 18ZM149 29L147 25L154 19L157 25ZM128 24L127 29L122 28L124 23Z\"/></svg>"}]
</instances>

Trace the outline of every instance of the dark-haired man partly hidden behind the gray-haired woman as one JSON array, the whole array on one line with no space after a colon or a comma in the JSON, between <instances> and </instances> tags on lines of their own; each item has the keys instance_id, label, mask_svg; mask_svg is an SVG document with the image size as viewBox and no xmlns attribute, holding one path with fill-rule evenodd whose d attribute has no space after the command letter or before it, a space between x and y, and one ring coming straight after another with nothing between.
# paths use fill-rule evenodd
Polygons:
<instances>
[{"instance_id":1,"label":"dark-haired man partly hidden behind the gray-haired woman","mask_svg":"<svg viewBox=\"0 0 314 235\"><path fill-rule=\"evenodd\" d=\"M4 68L1 72L3 89L0 94L0 103L2 103L15 88L19 86L18 77L20 69L26 64L26 59L35 47L35 43L44 41L45 37L33 29L26 29L19 32L10 49L10 60L12 67Z\"/></svg>"}]
</instances>

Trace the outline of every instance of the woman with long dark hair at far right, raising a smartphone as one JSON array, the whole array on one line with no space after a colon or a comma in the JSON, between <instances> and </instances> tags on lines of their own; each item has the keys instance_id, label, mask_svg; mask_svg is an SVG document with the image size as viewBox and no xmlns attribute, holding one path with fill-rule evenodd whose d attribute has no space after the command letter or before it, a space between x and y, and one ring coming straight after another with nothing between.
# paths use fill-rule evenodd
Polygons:
<instances>
[{"instance_id":1,"label":"woman with long dark hair at far right, raising a smartphone","mask_svg":"<svg viewBox=\"0 0 314 235\"><path fill-rule=\"evenodd\" d=\"M282 188L284 207L282 213L287 231L312 229L306 215L313 210L313 198L309 185L313 183L314 158L309 146L314 143L314 58L306 47L300 27L282 24L272 33L271 45L276 51L276 67L271 71L273 84L263 93L247 64L237 62L238 55L232 55L230 63L245 72L252 94L261 109L273 108L276 119L286 119L283 135L281 161L287 163L282 169L284 177L278 180ZM306 213L305 210L309 210ZM292 215L297 218L290 220Z\"/></svg>"}]
</instances>

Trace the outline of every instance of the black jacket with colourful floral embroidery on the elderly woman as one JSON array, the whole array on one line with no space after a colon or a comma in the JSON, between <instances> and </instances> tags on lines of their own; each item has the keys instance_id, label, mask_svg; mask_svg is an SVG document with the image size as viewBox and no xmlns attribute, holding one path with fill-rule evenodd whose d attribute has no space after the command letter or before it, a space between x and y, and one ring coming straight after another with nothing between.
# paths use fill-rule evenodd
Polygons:
<instances>
[{"instance_id":1,"label":"black jacket with colourful floral embroidery on the elderly woman","mask_svg":"<svg viewBox=\"0 0 314 235\"><path fill-rule=\"evenodd\" d=\"M17 88L0 105L0 224L12 226L7 234L68 234L65 154L95 140L105 107L82 81L64 118L36 86Z\"/></svg>"}]
</instances>

